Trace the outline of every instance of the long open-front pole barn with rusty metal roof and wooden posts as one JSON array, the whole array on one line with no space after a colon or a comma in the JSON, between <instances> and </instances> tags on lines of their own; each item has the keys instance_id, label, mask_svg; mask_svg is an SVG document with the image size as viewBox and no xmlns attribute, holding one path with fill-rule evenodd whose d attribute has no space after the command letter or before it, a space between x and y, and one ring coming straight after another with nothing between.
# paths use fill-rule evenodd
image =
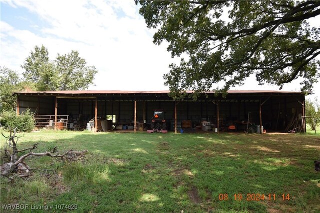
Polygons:
<instances>
[{"instance_id":1,"label":"long open-front pole barn with rusty metal roof and wooden posts","mask_svg":"<svg viewBox=\"0 0 320 213\"><path fill-rule=\"evenodd\" d=\"M186 91L192 93L192 91ZM16 92L17 114L30 109L36 126L93 131L150 128L153 110L165 112L167 130L305 132L301 92L229 90L196 101L174 101L169 91L32 91Z\"/></svg>"}]
</instances>

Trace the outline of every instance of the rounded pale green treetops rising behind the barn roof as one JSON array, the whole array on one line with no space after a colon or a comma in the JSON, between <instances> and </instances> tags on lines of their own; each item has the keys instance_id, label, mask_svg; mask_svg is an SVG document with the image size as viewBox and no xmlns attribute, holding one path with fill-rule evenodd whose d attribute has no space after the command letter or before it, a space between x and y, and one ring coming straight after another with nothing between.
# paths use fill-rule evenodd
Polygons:
<instances>
[{"instance_id":1,"label":"rounded pale green treetops rising behind the barn roof","mask_svg":"<svg viewBox=\"0 0 320 213\"><path fill-rule=\"evenodd\" d=\"M58 54L50 61L43 45L35 46L21 67L25 69L24 78L34 82L39 91L87 89L97 73L96 68L87 66L85 59L74 50L69 54Z\"/></svg>"}]
</instances>

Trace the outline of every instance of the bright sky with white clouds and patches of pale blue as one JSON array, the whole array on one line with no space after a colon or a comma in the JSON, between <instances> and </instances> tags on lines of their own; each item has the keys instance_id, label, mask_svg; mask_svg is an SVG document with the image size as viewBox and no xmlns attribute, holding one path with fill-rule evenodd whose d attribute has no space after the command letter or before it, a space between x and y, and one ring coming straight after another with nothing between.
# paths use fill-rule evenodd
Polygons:
<instances>
[{"instance_id":1,"label":"bright sky with white clouds and patches of pale blue","mask_svg":"<svg viewBox=\"0 0 320 213\"><path fill-rule=\"evenodd\" d=\"M44 45L49 58L77 50L95 66L89 90L168 90L163 74L178 62L167 52L167 43L153 44L134 0L0 0L0 66L22 73L25 58L34 46ZM21 75L22 77L22 75ZM250 76L232 90L278 90L259 86ZM300 91L299 81L283 91ZM320 82L313 87L319 97Z\"/></svg>"}]
</instances>

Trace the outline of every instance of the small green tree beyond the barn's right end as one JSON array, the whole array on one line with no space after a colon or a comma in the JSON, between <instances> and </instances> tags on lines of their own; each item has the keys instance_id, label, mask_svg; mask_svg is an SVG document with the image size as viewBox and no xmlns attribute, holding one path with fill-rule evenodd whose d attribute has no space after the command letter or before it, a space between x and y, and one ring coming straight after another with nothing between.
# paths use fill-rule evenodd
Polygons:
<instances>
[{"instance_id":1,"label":"small green tree beyond the barn's right end","mask_svg":"<svg viewBox=\"0 0 320 213\"><path fill-rule=\"evenodd\" d=\"M305 101L305 116L312 117L306 118L306 123L310 125L311 130L320 124L320 103L315 98L314 101Z\"/></svg>"}]
</instances>

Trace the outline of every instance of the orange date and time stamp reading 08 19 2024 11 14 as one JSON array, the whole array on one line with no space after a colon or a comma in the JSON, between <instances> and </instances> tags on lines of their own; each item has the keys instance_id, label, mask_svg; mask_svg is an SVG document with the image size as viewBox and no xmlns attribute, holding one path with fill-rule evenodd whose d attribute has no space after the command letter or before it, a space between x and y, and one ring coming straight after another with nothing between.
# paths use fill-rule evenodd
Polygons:
<instances>
[{"instance_id":1,"label":"orange date and time stamp reading 08 19 2024 11 14","mask_svg":"<svg viewBox=\"0 0 320 213\"><path fill-rule=\"evenodd\" d=\"M233 194L230 197L228 194L219 194L219 201L227 201L229 199L232 199L234 201L275 201L276 199L280 199L282 201L289 201L290 195L289 194L281 194L280 196L277 196L275 194L254 194L254 193L247 193L246 195L242 194Z\"/></svg>"}]
</instances>

